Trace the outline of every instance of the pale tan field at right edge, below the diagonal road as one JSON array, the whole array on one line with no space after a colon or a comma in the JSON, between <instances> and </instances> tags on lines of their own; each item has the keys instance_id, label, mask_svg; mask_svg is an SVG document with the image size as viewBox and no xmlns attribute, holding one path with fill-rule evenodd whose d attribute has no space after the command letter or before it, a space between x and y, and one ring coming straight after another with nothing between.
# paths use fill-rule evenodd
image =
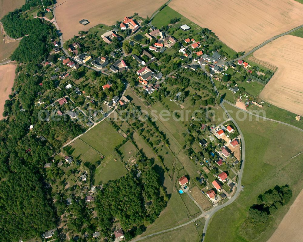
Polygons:
<instances>
[{"instance_id":1,"label":"pale tan field at right edge, below the diagonal road","mask_svg":"<svg viewBox=\"0 0 303 242\"><path fill-rule=\"evenodd\" d=\"M278 67L260 98L295 114L303 110L303 38L285 35L254 52L260 60Z\"/></svg>"}]
</instances>

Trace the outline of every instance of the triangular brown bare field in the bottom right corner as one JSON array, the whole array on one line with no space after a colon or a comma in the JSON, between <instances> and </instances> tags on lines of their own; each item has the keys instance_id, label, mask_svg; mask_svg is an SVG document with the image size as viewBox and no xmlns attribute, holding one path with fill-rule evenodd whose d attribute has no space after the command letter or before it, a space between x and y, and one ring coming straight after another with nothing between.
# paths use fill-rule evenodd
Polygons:
<instances>
[{"instance_id":1,"label":"triangular brown bare field in the bottom right corner","mask_svg":"<svg viewBox=\"0 0 303 242\"><path fill-rule=\"evenodd\" d=\"M298 242L303 238L303 190L267 242Z\"/></svg>"}]
</instances>

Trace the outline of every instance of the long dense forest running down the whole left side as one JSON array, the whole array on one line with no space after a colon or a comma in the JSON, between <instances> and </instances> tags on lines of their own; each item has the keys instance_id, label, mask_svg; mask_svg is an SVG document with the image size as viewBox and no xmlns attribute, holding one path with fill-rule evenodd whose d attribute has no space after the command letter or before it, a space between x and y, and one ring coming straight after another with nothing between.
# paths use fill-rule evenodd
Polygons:
<instances>
[{"instance_id":1,"label":"long dense forest running down the whole left side","mask_svg":"<svg viewBox=\"0 0 303 242\"><path fill-rule=\"evenodd\" d=\"M30 1L23 7L26 10L38 2ZM28 240L56 227L58 215L42 169L68 138L83 132L69 118L57 122L38 120L35 99L38 92L46 91L39 85L42 67L38 63L48 55L56 32L39 19L23 19L21 13L17 10L2 19L8 35L28 37L12 54L12 60L23 63L16 69L19 75L5 102L3 114L7 118L0 121L0 241L18 241L21 237ZM54 94L63 95L60 90ZM29 133L31 124L34 129ZM39 140L37 134L46 140Z\"/></svg>"}]
</instances>

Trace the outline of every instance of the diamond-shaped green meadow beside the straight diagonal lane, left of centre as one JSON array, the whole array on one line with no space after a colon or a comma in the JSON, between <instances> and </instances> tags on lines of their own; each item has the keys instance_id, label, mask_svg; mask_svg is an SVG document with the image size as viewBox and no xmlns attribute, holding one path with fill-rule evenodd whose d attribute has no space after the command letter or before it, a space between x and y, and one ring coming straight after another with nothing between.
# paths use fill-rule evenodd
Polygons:
<instances>
[{"instance_id":1,"label":"diamond-shaped green meadow beside the straight diagonal lane, left of centre","mask_svg":"<svg viewBox=\"0 0 303 242\"><path fill-rule=\"evenodd\" d=\"M123 139L107 121L102 121L81 136L81 140L105 156L112 154L115 146L121 144Z\"/></svg>"}]
</instances>

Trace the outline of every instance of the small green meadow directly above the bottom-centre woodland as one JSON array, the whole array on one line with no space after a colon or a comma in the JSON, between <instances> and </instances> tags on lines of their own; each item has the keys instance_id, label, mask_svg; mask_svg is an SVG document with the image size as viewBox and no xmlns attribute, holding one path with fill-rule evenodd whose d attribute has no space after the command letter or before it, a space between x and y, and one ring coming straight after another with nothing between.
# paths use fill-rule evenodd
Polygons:
<instances>
[{"instance_id":1,"label":"small green meadow directly above the bottom-centre woodland","mask_svg":"<svg viewBox=\"0 0 303 242\"><path fill-rule=\"evenodd\" d=\"M105 167L102 164L105 164ZM126 173L127 171L121 161L115 161L114 157L109 155L105 157L101 164L96 168L94 184L98 185L100 182L104 184L109 180L117 180Z\"/></svg>"}]
</instances>

